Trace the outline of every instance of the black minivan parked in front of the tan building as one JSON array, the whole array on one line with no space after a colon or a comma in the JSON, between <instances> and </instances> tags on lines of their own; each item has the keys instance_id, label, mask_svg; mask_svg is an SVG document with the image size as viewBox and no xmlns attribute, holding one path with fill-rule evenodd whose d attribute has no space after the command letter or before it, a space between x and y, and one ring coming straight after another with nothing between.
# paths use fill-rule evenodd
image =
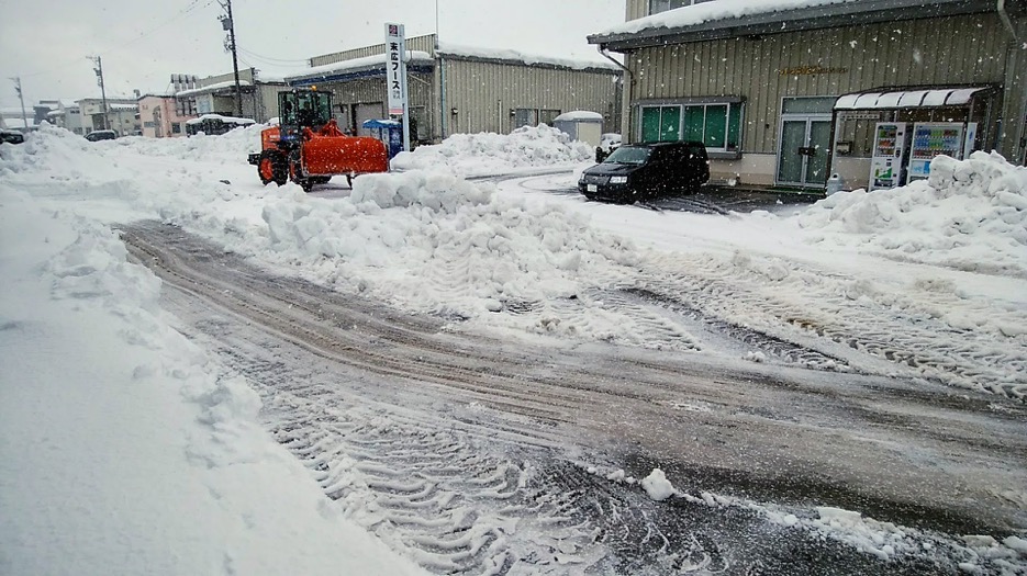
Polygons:
<instances>
[{"instance_id":1,"label":"black minivan parked in front of the tan building","mask_svg":"<svg viewBox=\"0 0 1027 576\"><path fill-rule=\"evenodd\" d=\"M625 144L581 172L578 191L589 200L635 202L694 194L707 180L710 163L701 142Z\"/></svg>"}]
</instances>

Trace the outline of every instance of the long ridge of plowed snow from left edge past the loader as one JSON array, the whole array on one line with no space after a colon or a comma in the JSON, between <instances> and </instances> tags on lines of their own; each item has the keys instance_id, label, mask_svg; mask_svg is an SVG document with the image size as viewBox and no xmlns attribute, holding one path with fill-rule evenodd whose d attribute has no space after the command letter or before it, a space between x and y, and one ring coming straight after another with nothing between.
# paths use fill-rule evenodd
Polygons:
<instances>
[{"instance_id":1,"label":"long ridge of plowed snow from left edge past the loader","mask_svg":"<svg viewBox=\"0 0 1027 576\"><path fill-rule=\"evenodd\" d=\"M574 340L694 348L688 334L672 330L668 345L646 318L605 305L599 293L632 282L645 252L574 210L420 170L361 176L355 190L330 187L323 196L291 183L264 187L234 151L256 137L247 129L256 128L208 138L224 148L198 155L186 139L94 146L55 128L7 146L0 176L9 171L10 183L37 196L88 199L79 210L111 224L174 223L265 266L411 312Z\"/></svg>"}]
</instances>

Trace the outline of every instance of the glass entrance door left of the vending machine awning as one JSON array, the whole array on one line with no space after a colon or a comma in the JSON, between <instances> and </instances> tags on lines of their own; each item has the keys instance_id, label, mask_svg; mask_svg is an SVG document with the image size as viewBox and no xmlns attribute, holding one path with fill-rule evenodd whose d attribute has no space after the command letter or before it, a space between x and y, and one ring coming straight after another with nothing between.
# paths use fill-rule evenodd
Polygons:
<instances>
[{"instance_id":1,"label":"glass entrance door left of the vending machine awning","mask_svg":"<svg viewBox=\"0 0 1027 576\"><path fill-rule=\"evenodd\" d=\"M799 187L827 184L830 117L784 116L780 134L778 183Z\"/></svg>"}]
</instances>

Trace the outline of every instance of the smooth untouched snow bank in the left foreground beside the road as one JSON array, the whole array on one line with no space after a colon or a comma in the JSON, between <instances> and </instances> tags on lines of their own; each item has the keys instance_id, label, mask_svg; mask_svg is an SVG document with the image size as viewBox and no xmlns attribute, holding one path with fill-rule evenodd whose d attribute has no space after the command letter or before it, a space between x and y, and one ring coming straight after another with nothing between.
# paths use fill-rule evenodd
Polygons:
<instances>
[{"instance_id":1,"label":"smooth untouched snow bank in the left foreground beside the road","mask_svg":"<svg viewBox=\"0 0 1027 576\"><path fill-rule=\"evenodd\" d=\"M0 206L0 573L424 574L326 502L116 234L3 179Z\"/></svg>"}]
</instances>

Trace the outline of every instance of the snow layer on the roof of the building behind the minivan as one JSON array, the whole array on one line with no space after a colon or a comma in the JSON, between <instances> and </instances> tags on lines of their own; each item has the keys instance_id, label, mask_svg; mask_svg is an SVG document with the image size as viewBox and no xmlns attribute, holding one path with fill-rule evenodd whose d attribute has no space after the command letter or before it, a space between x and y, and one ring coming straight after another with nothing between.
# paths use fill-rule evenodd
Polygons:
<instances>
[{"instance_id":1,"label":"snow layer on the roof of the building behind the minivan","mask_svg":"<svg viewBox=\"0 0 1027 576\"><path fill-rule=\"evenodd\" d=\"M695 26L718 20L734 20L771 12L786 12L828 4L858 2L861 0L713 0L699 4L686 5L652 14L651 16L632 20L624 24L612 26L596 36L617 34L634 34L651 29L677 29Z\"/></svg>"}]
</instances>

